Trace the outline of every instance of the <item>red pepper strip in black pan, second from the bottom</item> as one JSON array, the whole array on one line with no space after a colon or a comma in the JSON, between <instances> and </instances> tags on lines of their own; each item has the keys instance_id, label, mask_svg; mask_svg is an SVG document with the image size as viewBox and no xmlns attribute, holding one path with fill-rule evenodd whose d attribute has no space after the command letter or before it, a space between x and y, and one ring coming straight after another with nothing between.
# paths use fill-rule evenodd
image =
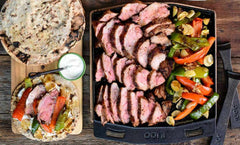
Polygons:
<instances>
[{"instance_id":1,"label":"red pepper strip in black pan, second from the bottom","mask_svg":"<svg viewBox=\"0 0 240 145\"><path fill-rule=\"evenodd\" d=\"M200 105L204 105L207 102L207 98L203 95L196 93L182 93L182 98L190 101L197 102Z\"/></svg>"}]
</instances>

